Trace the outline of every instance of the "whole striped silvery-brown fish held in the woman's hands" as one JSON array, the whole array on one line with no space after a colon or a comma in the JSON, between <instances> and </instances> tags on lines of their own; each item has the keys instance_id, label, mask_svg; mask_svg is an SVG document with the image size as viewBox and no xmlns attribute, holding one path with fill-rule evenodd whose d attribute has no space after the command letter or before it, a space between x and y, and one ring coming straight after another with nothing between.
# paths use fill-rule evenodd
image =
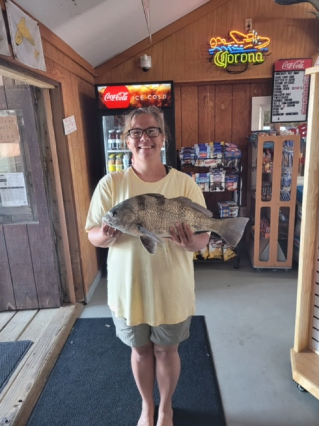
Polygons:
<instances>
[{"instance_id":1,"label":"whole striped silvery-brown fish held in the woman's hands","mask_svg":"<svg viewBox=\"0 0 319 426\"><path fill-rule=\"evenodd\" d=\"M214 219L212 216L210 210L190 198L166 198L162 194L147 193L127 198L107 211L102 220L122 233L139 237L150 254L156 252L158 243L164 243L161 238L171 238L170 226L175 228L176 222L187 223L194 234L214 232L236 247L249 219Z\"/></svg>"}]
</instances>

